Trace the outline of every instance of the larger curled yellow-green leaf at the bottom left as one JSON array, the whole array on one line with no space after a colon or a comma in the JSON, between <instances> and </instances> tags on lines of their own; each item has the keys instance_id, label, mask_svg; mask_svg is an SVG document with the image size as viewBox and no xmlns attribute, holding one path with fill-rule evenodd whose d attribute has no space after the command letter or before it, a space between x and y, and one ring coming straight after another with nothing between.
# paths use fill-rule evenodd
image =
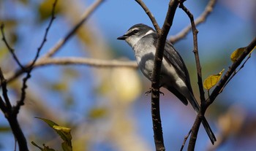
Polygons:
<instances>
[{"instance_id":1,"label":"larger curled yellow-green leaf at the bottom left","mask_svg":"<svg viewBox=\"0 0 256 151\"><path fill-rule=\"evenodd\" d=\"M36 117L36 118L43 120L45 123L47 123L50 126L50 128L53 128L53 130L56 131L56 133L58 133L59 136L61 136L61 139L64 141L61 144L63 150L72 151L72 142L71 142L72 135L70 133L71 128L60 126L54 123L52 120L48 120L41 117Z\"/></svg>"}]
</instances>

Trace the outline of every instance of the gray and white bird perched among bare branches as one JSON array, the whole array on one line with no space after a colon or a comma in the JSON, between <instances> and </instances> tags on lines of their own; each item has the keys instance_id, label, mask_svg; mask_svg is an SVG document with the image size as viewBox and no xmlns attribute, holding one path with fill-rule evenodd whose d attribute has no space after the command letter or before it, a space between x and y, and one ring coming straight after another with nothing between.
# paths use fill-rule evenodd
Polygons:
<instances>
[{"instance_id":1,"label":"gray and white bird perched among bare branches","mask_svg":"<svg viewBox=\"0 0 256 151\"><path fill-rule=\"evenodd\" d=\"M157 32L153 28L140 23L129 28L123 36L119 36L117 39L125 40L132 47L140 70L148 80L151 80L157 47ZM178 54L170 42L165 43L159 87L170 90L185 105L189 101L195 112L199 111L199 105L190 85L187 67L181 55ZM214 144L216 138L205 117L203 117L202 123L211 139L211 143Z\"/></svg>"}]
</instances>

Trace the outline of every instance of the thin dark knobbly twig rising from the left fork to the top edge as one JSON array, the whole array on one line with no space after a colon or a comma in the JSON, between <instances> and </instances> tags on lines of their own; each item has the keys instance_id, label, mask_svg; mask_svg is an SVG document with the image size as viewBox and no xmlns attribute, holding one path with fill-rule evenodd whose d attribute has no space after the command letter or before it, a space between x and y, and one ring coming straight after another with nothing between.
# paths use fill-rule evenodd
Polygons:
<instances>
[{"instance_id":1,"label":"thin dark knobbly twig rising from the left fork to the top edge","mask_svg":"<svg viewBox=\"0 0 256 151\"><path fill-rule=\"evenodd\" d=\"M53 23L53 20L55 19L55 9L56 9L56 4L57 4L58 0L55 0L53 3L53 9L52 9L52 16L50 18L50 22L48 24L48 27L45 30L45 35L42 39L42 43L40 44L40 46L37 49L37 54L35 55L33 61L31 62L31 64L29 65L29 69L26 71L26 77L23 78L23 86L21 88L21 95L20 95L20 100L17 101L17 104L15 105L15 107L13 107L13 112L15 112L16 114L18 114L20 107L24 104L25 98L26 98L26 82L29 80L29 78L31 77L31 71L33 69L34 63L36 63L37 59L39 58L39 53L42 50L42 47L44 46L45 42L46 42L46 38L48 35L48 31L50 29L50 26Z\"/></svg>"}]
</instances>

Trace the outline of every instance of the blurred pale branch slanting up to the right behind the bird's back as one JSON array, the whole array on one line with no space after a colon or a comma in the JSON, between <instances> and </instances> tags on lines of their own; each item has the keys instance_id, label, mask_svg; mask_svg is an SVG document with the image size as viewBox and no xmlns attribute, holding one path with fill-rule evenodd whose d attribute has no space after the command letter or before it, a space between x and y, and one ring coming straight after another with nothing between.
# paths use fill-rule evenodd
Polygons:
<instances>
[{"instance_id":1,"label":"blurred pale branch slanting up to the right behind the bird's back","mask_svg":"<svg viewBox=\"0 0 256 151\"><path fill-rule=\"evenodd\" d=\"M206 18L208 18L208 15L211 14L211 12L214 9L215 4L217 3L217 0L210 0L205 8L205 10L202 12L202 14L195 20L195 26L198 26L200 23L203 23L206 21ZM182 31L180 31L175 36L170 36L170 42L173 44L177 42L180 39L183 39L187 34L189 34L189 31L192 30L191 24L189 26L185 27Z\"/></svg>"}]
</instances>

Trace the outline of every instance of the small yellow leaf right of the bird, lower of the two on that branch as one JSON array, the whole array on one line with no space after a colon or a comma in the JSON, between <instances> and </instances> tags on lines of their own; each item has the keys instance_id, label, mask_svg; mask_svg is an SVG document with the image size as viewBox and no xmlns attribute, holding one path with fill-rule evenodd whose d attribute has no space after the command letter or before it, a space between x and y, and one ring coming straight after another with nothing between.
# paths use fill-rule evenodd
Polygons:
<instances>
[{"instance_id":1,"label":"small yellow leaf right of the bird, lower of the two on that branch","mask_svg":"<svg viewBox=\"0 0 256 151\"><path fill-rule=\"evenodd\" d=\"M213 74L207 77L206 80L203 82L203 88L205 88L206 90L210 90L214 85L216 85L222 77L222 73L224 70L225 69L222 69L219 74Z\"/></svg>"}]
</instances>

